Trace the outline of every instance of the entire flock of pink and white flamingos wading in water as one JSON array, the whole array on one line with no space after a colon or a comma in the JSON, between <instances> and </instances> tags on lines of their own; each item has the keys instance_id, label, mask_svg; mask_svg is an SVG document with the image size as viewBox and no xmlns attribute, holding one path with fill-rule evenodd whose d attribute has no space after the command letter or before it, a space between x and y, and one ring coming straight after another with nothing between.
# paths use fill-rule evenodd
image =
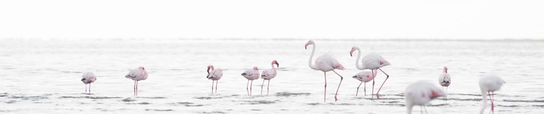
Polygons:
<instances>
[{"instance_id":1,"label":"entire flock of pink and white flamingos wading in water","mask_svg":"<svg viewBox=\"0 0 544 114\"><path fill-rule=\"evenodd\" d=\"M307 49L308 45L312 45L312 53L310 55L310 59L308 60L308 66L313 70L319 70L323 71L323 76L325 77L325 89L324 89L324 100L326 101L326 90L327 90L327 80L326 80L326 73L328 71L333 71L335 74L337 74L340 77L340 82L338 83L338 88L336 89L335 93L335 101L338 100L337 95L338 91L340 89L340 85L342 84L342 80L344 79L340 74L338 74L335 70L345 70L344 66L338 62L335 55L332 53L327 52L323 55L317 57L312 64L312 59L314 56L314 53L316 52L316 43L313 40L310 40L306 43L305 49ZM351 51L349 52L350 56L353 57L353 52L357 51L357 58L355 60L355 67L359 70L365 70L369 69L370 71L361 71L360 73L357 73L353 76L354 79L361 81L359 86L357 86L357 92L355 96L358 95L359 87L361 87L362 83L364 82L364 95L366 96L366 82L372 81L372 97L371 99L374 99L374 79L378 74L378 70L381 71L381 73L384 73L386 75L386 79L378 89L378 92L376 92L376 98L380 99L379 92L381 88L384 86L385 81L389 78L389 75L385 73L384 70L382 70L382 67L385 67L387 65L391 65L390 62L388 62L384 57L380 56L378 53L370 52L367 53L364 57L361 59L361 49L357 46L353 46L351 48ZM361 62L359 60L361 59ZM361 65L359 64L361 63ZM267 85L267 94L269 93L269 87L270 87L270 80L274 79L277 75L276 67L274 66L276 64L276 67L279 68L280 64L273 60L271 62L272 69L263 70L262 74L259 74L259 71L257 67L253 67L252 69L245 70L241 75L248 79L248 83L246 85L246 91L248 91L248 95L252 95L252 85L253 80L259 79L259 76L261 79L263 79L263 83L261 85L261 94L263 92L263 86L264 81L268 80ZM221 79L223 72L221 69L215 69L213 65L208 65L208 70L206 75L206 78L208 80L212 80L212 93L214 93L214 82L215 82L215 93L217 93L217 85L219 82L219 79ZM405 91L405 100L406 100L406 108L407 113L412 112L413 105L420 105L422 108L425 108L425 105L428 104L432 99L437 97L445 97L444 100L447 100L446 93L448 91L448 86L450 86L451 77L448 74L448 68L443 67L442 74L438 76L438 84L442 86L442 90L438 87L434 86L431 83L428 82L414 82L406 87ZM134 81L134 95L138 95L138 82L141 80L147 79L147 71L144 69L144 67L138 67L136 69L130 70L127 75L125 75L126 78L131 79ZM92 72L86 72L82 75L81 81L85 84L85 93L87 92L86 85L89 84L89 94L91 93L90 84L94 83L96 81L96 76ZM251 83L250 83L251 81ZM480 114L482 114L487 107L487 97L489 97L491 101L491 112L494 113L494 93L495 91L498 91L500 87L506 83L504 80L502 80L499 76L496 75L484 75L481 77L479 81L479 86L481 90L481 95L483 97L483 106L481 107ZM248 87L249 86L249 87ZM443 87L446 87L446 92L444 92ZM425 109L426 112L426 109ZM421 110L421 113L423 113L423 110Z\"/></svg>"}]
</instances>

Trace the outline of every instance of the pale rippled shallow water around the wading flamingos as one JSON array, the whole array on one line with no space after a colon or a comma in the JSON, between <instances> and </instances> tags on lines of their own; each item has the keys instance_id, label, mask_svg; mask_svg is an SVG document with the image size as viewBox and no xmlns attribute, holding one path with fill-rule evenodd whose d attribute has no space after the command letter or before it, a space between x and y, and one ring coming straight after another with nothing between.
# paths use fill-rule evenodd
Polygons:
<instances>
[{"instance_id":1,"label":"pale rippled shallow water around the wading flamingos","mask_svg":"<svg viewBox=\"0 0 544 114\"><path fill-rule=\"evenodd\" d=\"M429 113L478 113L481 96L479 77L499 75L507 83L494 92L495 113L541 113L544 111L543 41L452 41L452 40L315 40L316 56L335 53L347 69L345 77L327 73L323 101L322 71L308 67L312 47L307 40L121 40L121 41L4 41L0 42L0 112L11 113L405 113L404 90L416 81L438 87L442 67L448 67L452 85L448 101L432 100ZM390 78L371 100L372 83L363 85L351 76L358 46L362 55L378 52L392 65L382 68ZM357 52L354 52L354 56ZM262 79L252 83L251 96L240 74L257 66L280 68L261 95ZM217 93L211 93L206 66L222 69ZM144 66L149 78L139 82L133 95L129 70ZM92 71L97 81L92 94L85 94L81 75ZM262 70L261 70L262 71ZM369 71L369 70L367 70ZM385 80L378 73L374 93ZM363 83L364 84L364 83ZM374 97L375 98L375 97ZM489 105L490 102L488 102ZM484 113L489 112L490 106ZM419 106L413 113L419 113Z\"/></svg>"}]
</instances>

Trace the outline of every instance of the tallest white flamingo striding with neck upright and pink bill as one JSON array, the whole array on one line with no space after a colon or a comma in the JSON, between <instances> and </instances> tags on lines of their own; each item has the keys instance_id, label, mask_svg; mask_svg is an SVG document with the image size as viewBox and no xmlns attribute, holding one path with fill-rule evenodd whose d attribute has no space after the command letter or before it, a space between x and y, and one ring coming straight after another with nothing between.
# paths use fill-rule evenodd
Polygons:
<instances>
[{"instance_id":1,"label":"tallest white flamingo striding with neck upright and pink bill","mask_svg":"<svg viewBox=\"0 0 544 114\"><path fill-rule=\"evenodd\" d=\"M316 44L314 43L313 40L310 40L308 41L308 43L306 43L306 45L304 46L305 49L307 49L308 45L310 44L313 44L313 49L312 49L312 55L310 55L310 60L308 61L308 65L310 66L310 68L314 69L314 70L321 70L323 71L324 75L325 75L325 95L323 98L324 100L326 100L326 94L327 94L327 71L333 71L336 73L336 71L334 69L341 69L341 70L345 70L344 66L342 66L342 64L338 63L338 61L336 60L336 57L333 56L332 54L330 54L329 52L325 53L324 55L322 56L319 56L316 58L316 63L312 65L312 58L313 58L313 54L316 52ZM342 84L342 80L344 79L344 77L342 77L341 75L339 75L338 73L336 73L338 76L340 76L340 83L338 83L338 89L340 89L340 84ZM338 95L338 89L336 89L336 94L335 94L335 101L338 100L338 98L336 98L336 95Z\"/></svg>"}]
</instances>

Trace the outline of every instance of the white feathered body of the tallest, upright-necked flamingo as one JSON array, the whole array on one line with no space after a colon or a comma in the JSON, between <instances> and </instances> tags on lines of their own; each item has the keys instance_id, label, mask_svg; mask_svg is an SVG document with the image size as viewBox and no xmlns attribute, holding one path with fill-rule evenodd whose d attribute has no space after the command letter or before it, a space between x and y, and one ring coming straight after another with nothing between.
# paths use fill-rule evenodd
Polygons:
<instances>
[{"instance_id":1,"label":"white feathered body of the tallest, upright-necked flamingo","mask_svg":"<svg viewBox=\"0 0 544 114\"><path fill-rule=\"evenodd\" d=\"M336 60L336 57L332 53L329 53L329 52L316 58L315 65L319 68L318 70L325 71L325 72L331 71L334 69L345 70L344 66L342 66L342 64L340 64L338 60Z\"/></svg>"}]
</instances>

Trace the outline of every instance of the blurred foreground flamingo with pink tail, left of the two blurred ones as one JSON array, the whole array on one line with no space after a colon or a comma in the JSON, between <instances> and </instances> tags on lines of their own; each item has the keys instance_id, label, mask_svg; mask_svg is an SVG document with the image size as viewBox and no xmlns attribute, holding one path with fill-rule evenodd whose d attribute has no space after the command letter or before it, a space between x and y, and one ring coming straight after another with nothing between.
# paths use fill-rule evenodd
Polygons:
<instances>
[{"instance_id":1,"label":"blurred foreground flamingo with pink tail, left of the two blurred ones","mask_svg":"<svg viewBox=\"0 0 544 114\"><path fill-rule=\"evenodd\" d=\"M406 87L405 99L406 108L408 114L412 113L413 105L420 105L425 107L425 104L429 103L432 99L444 96L444 92L440 88L432 85L429 82L415 82ZM425 109L425 113L427 109ZM423 113L423 110L421 110Z\"/></svg>"}]
</instances>

